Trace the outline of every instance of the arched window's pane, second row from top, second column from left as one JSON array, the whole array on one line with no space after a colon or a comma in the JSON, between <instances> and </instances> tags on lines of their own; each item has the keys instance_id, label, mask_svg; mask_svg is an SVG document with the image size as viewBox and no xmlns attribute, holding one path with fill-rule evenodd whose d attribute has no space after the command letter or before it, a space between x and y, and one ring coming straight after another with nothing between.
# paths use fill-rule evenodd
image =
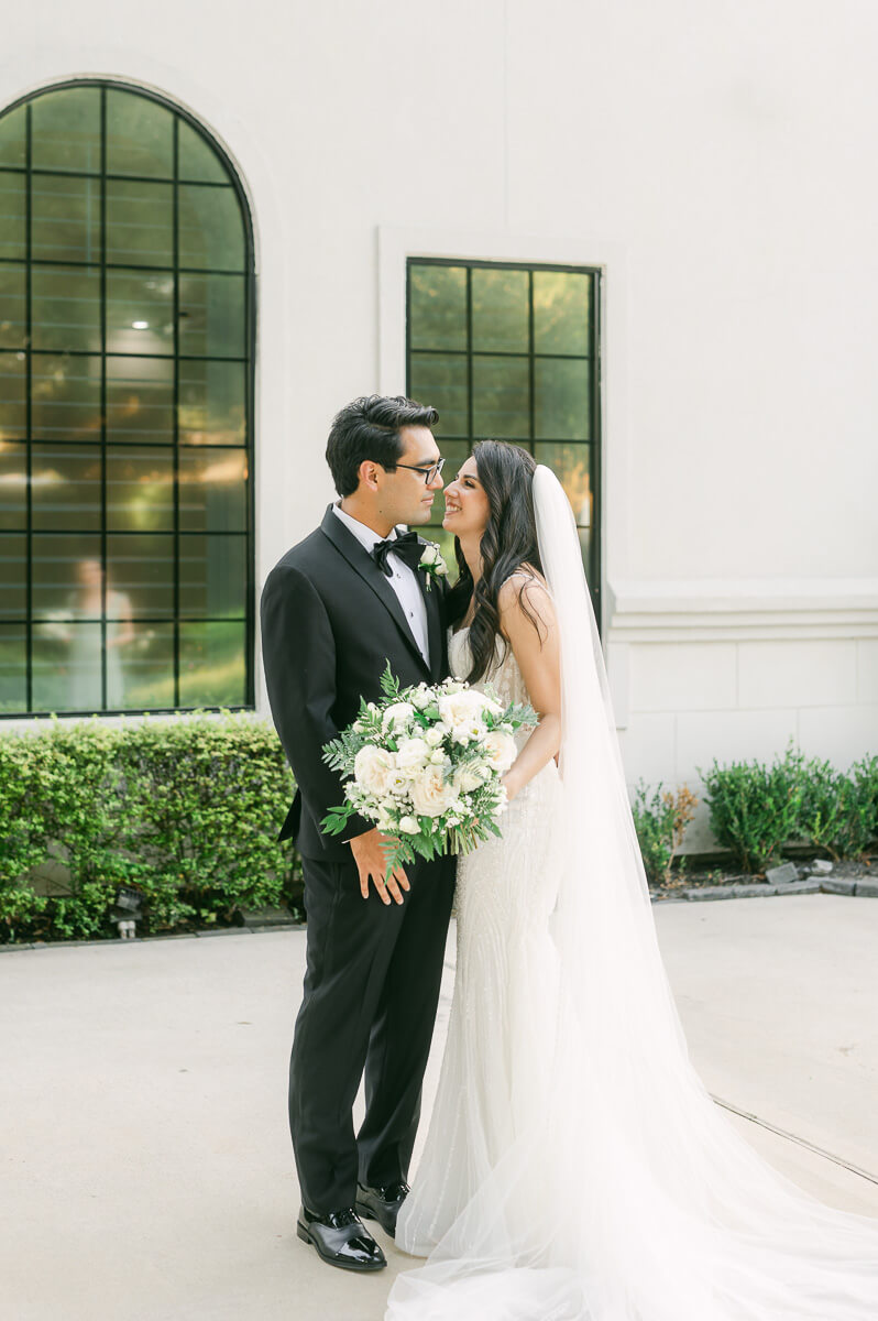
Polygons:
<instances>
[{"instance_id":1,"label":"arched window's pane, second row from top, second column from left","mask_svg":"<svg viewBox=\"0 0 878 1321\"><path fill-rule=\"evenodd\" d=\"M100 262L100 180L34 174L30 207L36 260Z\"/></svg>"}]
</instances>

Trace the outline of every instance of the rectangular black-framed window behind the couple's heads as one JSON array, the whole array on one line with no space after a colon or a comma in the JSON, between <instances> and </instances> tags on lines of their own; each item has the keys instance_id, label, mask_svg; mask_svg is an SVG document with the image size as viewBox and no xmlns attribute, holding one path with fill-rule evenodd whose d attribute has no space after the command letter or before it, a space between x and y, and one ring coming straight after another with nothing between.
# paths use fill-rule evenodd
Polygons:
<instances>
[{"instance_id":1,"label":"rectangular black-framed window behind the couple's heads","mask_svg":"<svg viewBox=\"0 0 878 1321\"><path fill-rule=\"evenodd\" d=\"M551 468L599 622L599 271L409 258L407 275L407 390L438 411L446 481L478 440L512 441ZM453 561L441 524L424 534Z\"/></svg>"}]
</instances>

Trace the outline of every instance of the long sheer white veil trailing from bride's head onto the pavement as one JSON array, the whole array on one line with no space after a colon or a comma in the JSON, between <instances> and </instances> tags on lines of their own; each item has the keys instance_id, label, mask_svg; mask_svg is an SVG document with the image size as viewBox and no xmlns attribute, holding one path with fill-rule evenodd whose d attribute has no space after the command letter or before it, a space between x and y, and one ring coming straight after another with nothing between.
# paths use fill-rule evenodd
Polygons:
<instances>
[{"instance_id":1,"label":"long sheer white veil trailing from bride's head onto the pavement","mask_svg":"<svg viewBox=\"0 0 878 1321\"><path fill-rule=\"evenodd\" d=\"M875 1321L878 1219L764 1164L689 1063L578 536L544 466L533 499L562 679L552 1066L539 1119L397 1277L388 1321Z\"/></svg>"}]
</instances>

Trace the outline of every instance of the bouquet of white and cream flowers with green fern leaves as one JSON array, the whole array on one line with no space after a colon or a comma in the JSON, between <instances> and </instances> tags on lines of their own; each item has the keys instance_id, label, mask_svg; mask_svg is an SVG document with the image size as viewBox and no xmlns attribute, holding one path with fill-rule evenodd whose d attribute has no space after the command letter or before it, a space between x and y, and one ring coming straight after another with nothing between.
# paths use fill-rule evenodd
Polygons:
<instances>
[{"instance_id":1,"label":"bouquet of white and cream flowers with green fern leaves","mask_svg":"<svg viewBox=\"0 0 878 1321\"><path fill-rule=\"evenodd\" d=\"M354 724L323 748L323 761L350 777L323 831L339 835L355 812L375 822L391 838L387 876L416 855L469 853L499 835L500 777L518 754L515 731L535 725L535 711L503 707L462 679L400 690L389 662L382 692L382 701L360 700Z\"/></svg>"}]
</instances>

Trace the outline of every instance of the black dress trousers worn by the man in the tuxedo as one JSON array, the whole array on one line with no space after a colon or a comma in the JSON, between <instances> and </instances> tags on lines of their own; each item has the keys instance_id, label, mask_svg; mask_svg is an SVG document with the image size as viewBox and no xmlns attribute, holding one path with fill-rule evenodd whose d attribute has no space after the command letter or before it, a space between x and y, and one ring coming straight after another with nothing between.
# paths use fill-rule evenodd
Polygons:
<instances>
[{"instance_id":1,"label":"black dress trousers worn by the man in the tuxedo","mask_svg":"<svg viewBox=\"0 0 878 1321\"><path fill-rule=\"evenodd\" d=\"M403 904L359 889L354 856L302 857L305 993L289 1063L289 1128L305 1206L353 1206L356 1181L407 1178L433 1036L456 859L405 868ZM366 1070L366 1116L353 1107Z\"/></svg>"}]
</instances>

